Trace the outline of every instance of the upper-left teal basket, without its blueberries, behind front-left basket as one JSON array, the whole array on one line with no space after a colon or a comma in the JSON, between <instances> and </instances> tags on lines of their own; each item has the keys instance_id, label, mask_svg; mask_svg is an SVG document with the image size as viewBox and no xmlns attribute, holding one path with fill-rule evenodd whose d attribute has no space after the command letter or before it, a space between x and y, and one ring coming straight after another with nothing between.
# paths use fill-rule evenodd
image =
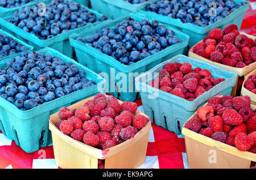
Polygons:
<instances>
[{"instance_id":1,"label":"upper-left teal basket, without its blueberries, behind front-left basket","mask_svg":"<svg viewBox=\"0 0 256 180\"><path fill-rule=\"evenodd\" d=\"M71 1L71 0L69 0L69 1ZM51 2L51 0L46 0L46 1L42 1L42 2L48 4L49 2ZM35 3L31 3L28 6L33 6L33 5L35 5ZM100 16L102 16L102 14L98 13L97 11L90 10L88 7L85 7L85 8L87 8L88 11L93 12L97 18L100 18ZM85 28L92 28L94 25L108 21L108 20L105 20L104 22L92 23L89 25L85 25L84 27L72 29L71 31L61 33L55 37L49 38L48 40L40 40L35 35L24 31L23 29L19 28L18 26L14 25L12 23L7 22L7 19L10 19L13 16L14 12L16 12L16 11L18 11L18 9L0 13L1 29L4 29L5 31L7 31L7 32L13 34L15 37L19 38L20 40L33 46L35 50L49 47L49 48L53 48L53 49L59 51L60 53L63 53L64 55L67 55L70 58L74 58L73 57L74 49L69 44L69 40L68 40L69 35L71 35L72 33L81 32Z\"/></svg>"}]
</instances>

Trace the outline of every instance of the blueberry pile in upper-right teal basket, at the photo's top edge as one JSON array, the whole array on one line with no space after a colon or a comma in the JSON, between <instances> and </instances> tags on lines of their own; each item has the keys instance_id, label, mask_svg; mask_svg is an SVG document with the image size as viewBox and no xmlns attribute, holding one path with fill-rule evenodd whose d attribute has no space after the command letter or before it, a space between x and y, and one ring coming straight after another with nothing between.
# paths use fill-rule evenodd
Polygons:
<instances>
[{"instance_id":1,"label":"blueberry pile in upper-right teal basket, at the photo's top edge","mask_svg":"<svg viewBox=\"0 0 256 180\"><path fill-rule=\"evenodd\" d=\"M210 3L216 5L216 10L213 11L213 6ZM246 3L245 1L235 4L233 0L156 1L155 3L148 4L146 11L155 12L169 18L180 19L183 23L192 23L205 27L225 18Z\"/></svg>"}]
</instances>

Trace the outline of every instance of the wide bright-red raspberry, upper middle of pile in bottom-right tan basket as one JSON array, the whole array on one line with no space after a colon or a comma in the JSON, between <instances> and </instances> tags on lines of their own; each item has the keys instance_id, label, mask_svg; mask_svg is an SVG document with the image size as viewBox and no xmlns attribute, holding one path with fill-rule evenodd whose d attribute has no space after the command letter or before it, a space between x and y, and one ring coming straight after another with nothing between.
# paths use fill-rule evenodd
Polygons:
<instances>
[{"instance_id":1,"label":"wide bright-red raspberry, upper middle of pile in bottom-right tan basket","mask_svg":"<svg viewBox=\"0 0 256 180\"><path fill-rule=\"evenodd\" d=\"M226 125L240 125L243 122L243 118L234 109L226 109L222 114L223 122Z\"/></svg>"}]
</instances>

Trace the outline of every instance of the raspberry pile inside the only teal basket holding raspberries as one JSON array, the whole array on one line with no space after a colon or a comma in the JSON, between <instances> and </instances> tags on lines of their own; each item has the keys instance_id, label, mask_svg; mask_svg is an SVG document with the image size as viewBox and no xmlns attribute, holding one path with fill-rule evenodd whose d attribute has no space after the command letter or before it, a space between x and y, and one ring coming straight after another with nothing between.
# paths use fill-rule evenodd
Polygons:
<instances>
[{"instance_id":1,"label":"raspberry pile inside the only teal basket holding raspberries","mask_svg":"<svg viewBox=\"0 0 256 180\"><path fill-rule=\"evenodd\" d=\"M200 67L192 69L188 62L170 62L159 72L159 77L148 85L193 101L224 80L224 78L213 78L212 73L207 69L202 70Z\"/></svg>"}]
</instances>

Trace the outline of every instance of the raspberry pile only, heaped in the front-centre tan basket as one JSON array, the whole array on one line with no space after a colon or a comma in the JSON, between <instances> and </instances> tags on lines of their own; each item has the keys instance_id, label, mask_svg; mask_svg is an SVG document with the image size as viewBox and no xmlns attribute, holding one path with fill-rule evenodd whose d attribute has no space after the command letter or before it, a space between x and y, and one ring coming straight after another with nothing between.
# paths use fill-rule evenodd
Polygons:
<instances>
[{"instance_id":1,"label":"raspberry pile only, heaped in the front-centre tan basket","mask_svg":"<svg viewBox=\"0 0 256 180\"><path fill-rule=\"evenodd\" d=\"M107 149L131 139L147 125L148 119L135 115L137 104L114 96L98 94L81 108L61 108L61 121L56 124L61 132L73 139L98 149Z\"/></svg>"}]
</instances>

